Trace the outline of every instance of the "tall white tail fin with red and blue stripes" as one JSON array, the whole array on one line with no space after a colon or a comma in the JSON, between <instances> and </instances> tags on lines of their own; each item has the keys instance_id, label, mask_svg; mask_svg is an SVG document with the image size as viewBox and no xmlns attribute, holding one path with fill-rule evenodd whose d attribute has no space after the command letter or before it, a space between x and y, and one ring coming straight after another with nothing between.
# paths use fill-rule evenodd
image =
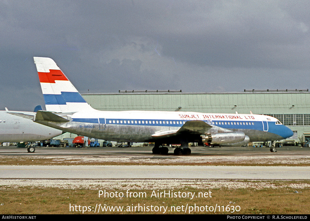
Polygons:
<instances>
[{"instance_id":1,"label":"tall white tail fin with red and blue stripes","mask_svg":"<svg viewBox=\"0 0 310 221\"><path fill-rule=\"evenodd\" d=\"M33 57L47 111L77 112L91 110L78 90L51 58Z\"/></svg>"}]
</instances>

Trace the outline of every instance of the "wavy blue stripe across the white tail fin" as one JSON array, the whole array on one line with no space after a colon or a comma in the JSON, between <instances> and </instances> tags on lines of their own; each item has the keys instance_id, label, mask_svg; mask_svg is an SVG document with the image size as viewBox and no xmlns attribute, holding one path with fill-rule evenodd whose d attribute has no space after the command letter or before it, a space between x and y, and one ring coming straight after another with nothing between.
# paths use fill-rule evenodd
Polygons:
<instances>
[{"instance_id":1,"label":"wavy blue stripe across the white tail fin","mask_svg":"<svg viewBox=\"0 0 310 221\"><path fill-rule=\"evenodd\" d=\"M78 92L61 92L60 95L44 94L45 104L86 103Z\"/></svg>"}]
</instances>

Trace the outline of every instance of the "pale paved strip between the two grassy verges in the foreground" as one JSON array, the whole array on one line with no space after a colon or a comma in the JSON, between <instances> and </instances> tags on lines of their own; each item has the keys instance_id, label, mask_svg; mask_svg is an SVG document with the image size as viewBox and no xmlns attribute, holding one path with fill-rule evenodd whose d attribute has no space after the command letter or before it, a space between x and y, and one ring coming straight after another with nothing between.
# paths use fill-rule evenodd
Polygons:
<instances>
[{"instance_id":1,"label":"pale paved strip between the two grassy verges in the foreground","mask_svg":"<svg viewBox=\"0 0 310 221\"><path fill-rule=\"evenodd\" d=\"M310 179L304 166L0 166L0 179Z\"/></svg>"}]
</instances>

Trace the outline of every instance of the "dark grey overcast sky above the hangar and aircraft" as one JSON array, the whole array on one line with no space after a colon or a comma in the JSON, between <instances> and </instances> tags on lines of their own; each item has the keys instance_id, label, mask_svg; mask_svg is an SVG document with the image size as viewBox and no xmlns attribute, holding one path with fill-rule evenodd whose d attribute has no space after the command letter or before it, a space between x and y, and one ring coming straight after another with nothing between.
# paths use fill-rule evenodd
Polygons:
<instances>
[{"instance_id":1,"label":"dark grey overcast sky above the hangar and aircraft","mask_svg":"<svg viewBox=\"0 0 310 221\"><path fill-rule=\"evenodd\" d=\"M44 105L33 56L55 60L80 93L308 89L309 8L309 0L2 0L0 109Z\"/></svg>"}]
</instances>

